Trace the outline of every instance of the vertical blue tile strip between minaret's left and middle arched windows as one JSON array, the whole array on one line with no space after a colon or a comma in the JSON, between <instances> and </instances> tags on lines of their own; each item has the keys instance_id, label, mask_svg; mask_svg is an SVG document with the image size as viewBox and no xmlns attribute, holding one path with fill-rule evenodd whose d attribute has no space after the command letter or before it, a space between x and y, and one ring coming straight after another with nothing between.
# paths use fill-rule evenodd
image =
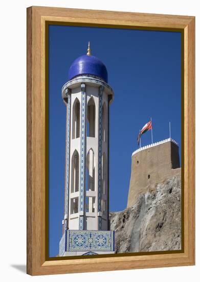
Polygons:
<instances>
[{"instance_id":1,"label":"vertical blue tile strip between minaret's left and middle arched windows","mask_svg":"<svg viewBox=\"0 0 200 282\"><path fill-rule=\"evenodd\" d=\"M86 152L86 91L85 84L81 83L81 138L80 138L80 199L79 199L79 229L84 229L84 190L85 190L85 152Z\"/></svg>"}]
</instances>

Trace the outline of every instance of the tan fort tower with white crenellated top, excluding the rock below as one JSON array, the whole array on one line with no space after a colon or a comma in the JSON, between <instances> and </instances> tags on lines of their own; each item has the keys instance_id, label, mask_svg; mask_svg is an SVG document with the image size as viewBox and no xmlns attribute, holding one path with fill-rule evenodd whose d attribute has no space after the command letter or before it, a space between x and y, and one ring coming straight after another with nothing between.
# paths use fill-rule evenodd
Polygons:
<instances>
[{"instance_id":1,"label":"tan fort tower with white crenellated top, excluding the rock below","mask_svg":"<svg viewBox=\"0 0 200 282\"><path fill-rule=\"evenodd\" d=\"M179 145L171 138L144 146L132 153L127 208L141 193L151 192L157 184L180 175Z\"/></svg>"}]
</instances>

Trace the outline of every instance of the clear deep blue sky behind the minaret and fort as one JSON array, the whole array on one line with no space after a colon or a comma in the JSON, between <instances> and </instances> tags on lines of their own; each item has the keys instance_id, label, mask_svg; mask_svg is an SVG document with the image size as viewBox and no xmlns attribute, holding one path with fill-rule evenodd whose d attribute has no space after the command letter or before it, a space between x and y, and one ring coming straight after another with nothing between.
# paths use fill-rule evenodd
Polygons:
<instances>
[{"instance_id":1,"label":"clear deep blue sky behind the minaret and fort","mask_svg":"<svg viewBox=\"0 0 200 282\"><path fill-rule=\"evenodd\" d=\"M181 33L91 27L49 27L49 255L56 256L64 206L65 114L61 88L74 59L86 54L105 64L115 92L110 105L110 211L126 208L131 154L152 117L153 142L171 137L181 152ZM142 146L151 132L142 135Z\"/></svg>"}]
</instances>

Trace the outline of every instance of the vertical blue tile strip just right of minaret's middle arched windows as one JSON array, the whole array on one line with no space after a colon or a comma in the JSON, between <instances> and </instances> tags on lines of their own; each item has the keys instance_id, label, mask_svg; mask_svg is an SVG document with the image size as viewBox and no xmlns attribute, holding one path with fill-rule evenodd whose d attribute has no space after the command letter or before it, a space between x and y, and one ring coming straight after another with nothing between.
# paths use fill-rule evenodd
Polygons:
<instances>
[{"instance_id":1,"label":"vertical blue tile strip just right of minaret's middle arched windows","mask_svg":"<svg viewBox=\"0 0 200 282\"><path fill-rule=\"evenodd\" d=\"M98 212L101 212L101 182L102 182L102 96L104 86L99 87L99 145L98 145ZM98 229L102 229L102 218L98 216Z\"/></svg>"}]
</instances>

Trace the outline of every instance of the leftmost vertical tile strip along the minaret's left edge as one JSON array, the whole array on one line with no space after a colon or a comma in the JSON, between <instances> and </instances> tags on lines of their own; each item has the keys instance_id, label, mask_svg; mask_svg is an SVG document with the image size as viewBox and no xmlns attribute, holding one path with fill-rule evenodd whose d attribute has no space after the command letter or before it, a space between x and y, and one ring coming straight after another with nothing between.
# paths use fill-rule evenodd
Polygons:
<instances>
[{"instance_id":1,"label":"leftmost vertical tile strip along the minaret's left edge","mask_svg":"<svg viewBox=\"0 0 200 282\"><path fill-rule=\"evenodd\" d=\"M69 218L69 173L70 173L70 117L71 117L71 89L65 90L65 95L68 97L67 112L66 112L66 180L65 180L65 207L64 207L64 228L68 228Z\"/></svg>"}]
</instances>

